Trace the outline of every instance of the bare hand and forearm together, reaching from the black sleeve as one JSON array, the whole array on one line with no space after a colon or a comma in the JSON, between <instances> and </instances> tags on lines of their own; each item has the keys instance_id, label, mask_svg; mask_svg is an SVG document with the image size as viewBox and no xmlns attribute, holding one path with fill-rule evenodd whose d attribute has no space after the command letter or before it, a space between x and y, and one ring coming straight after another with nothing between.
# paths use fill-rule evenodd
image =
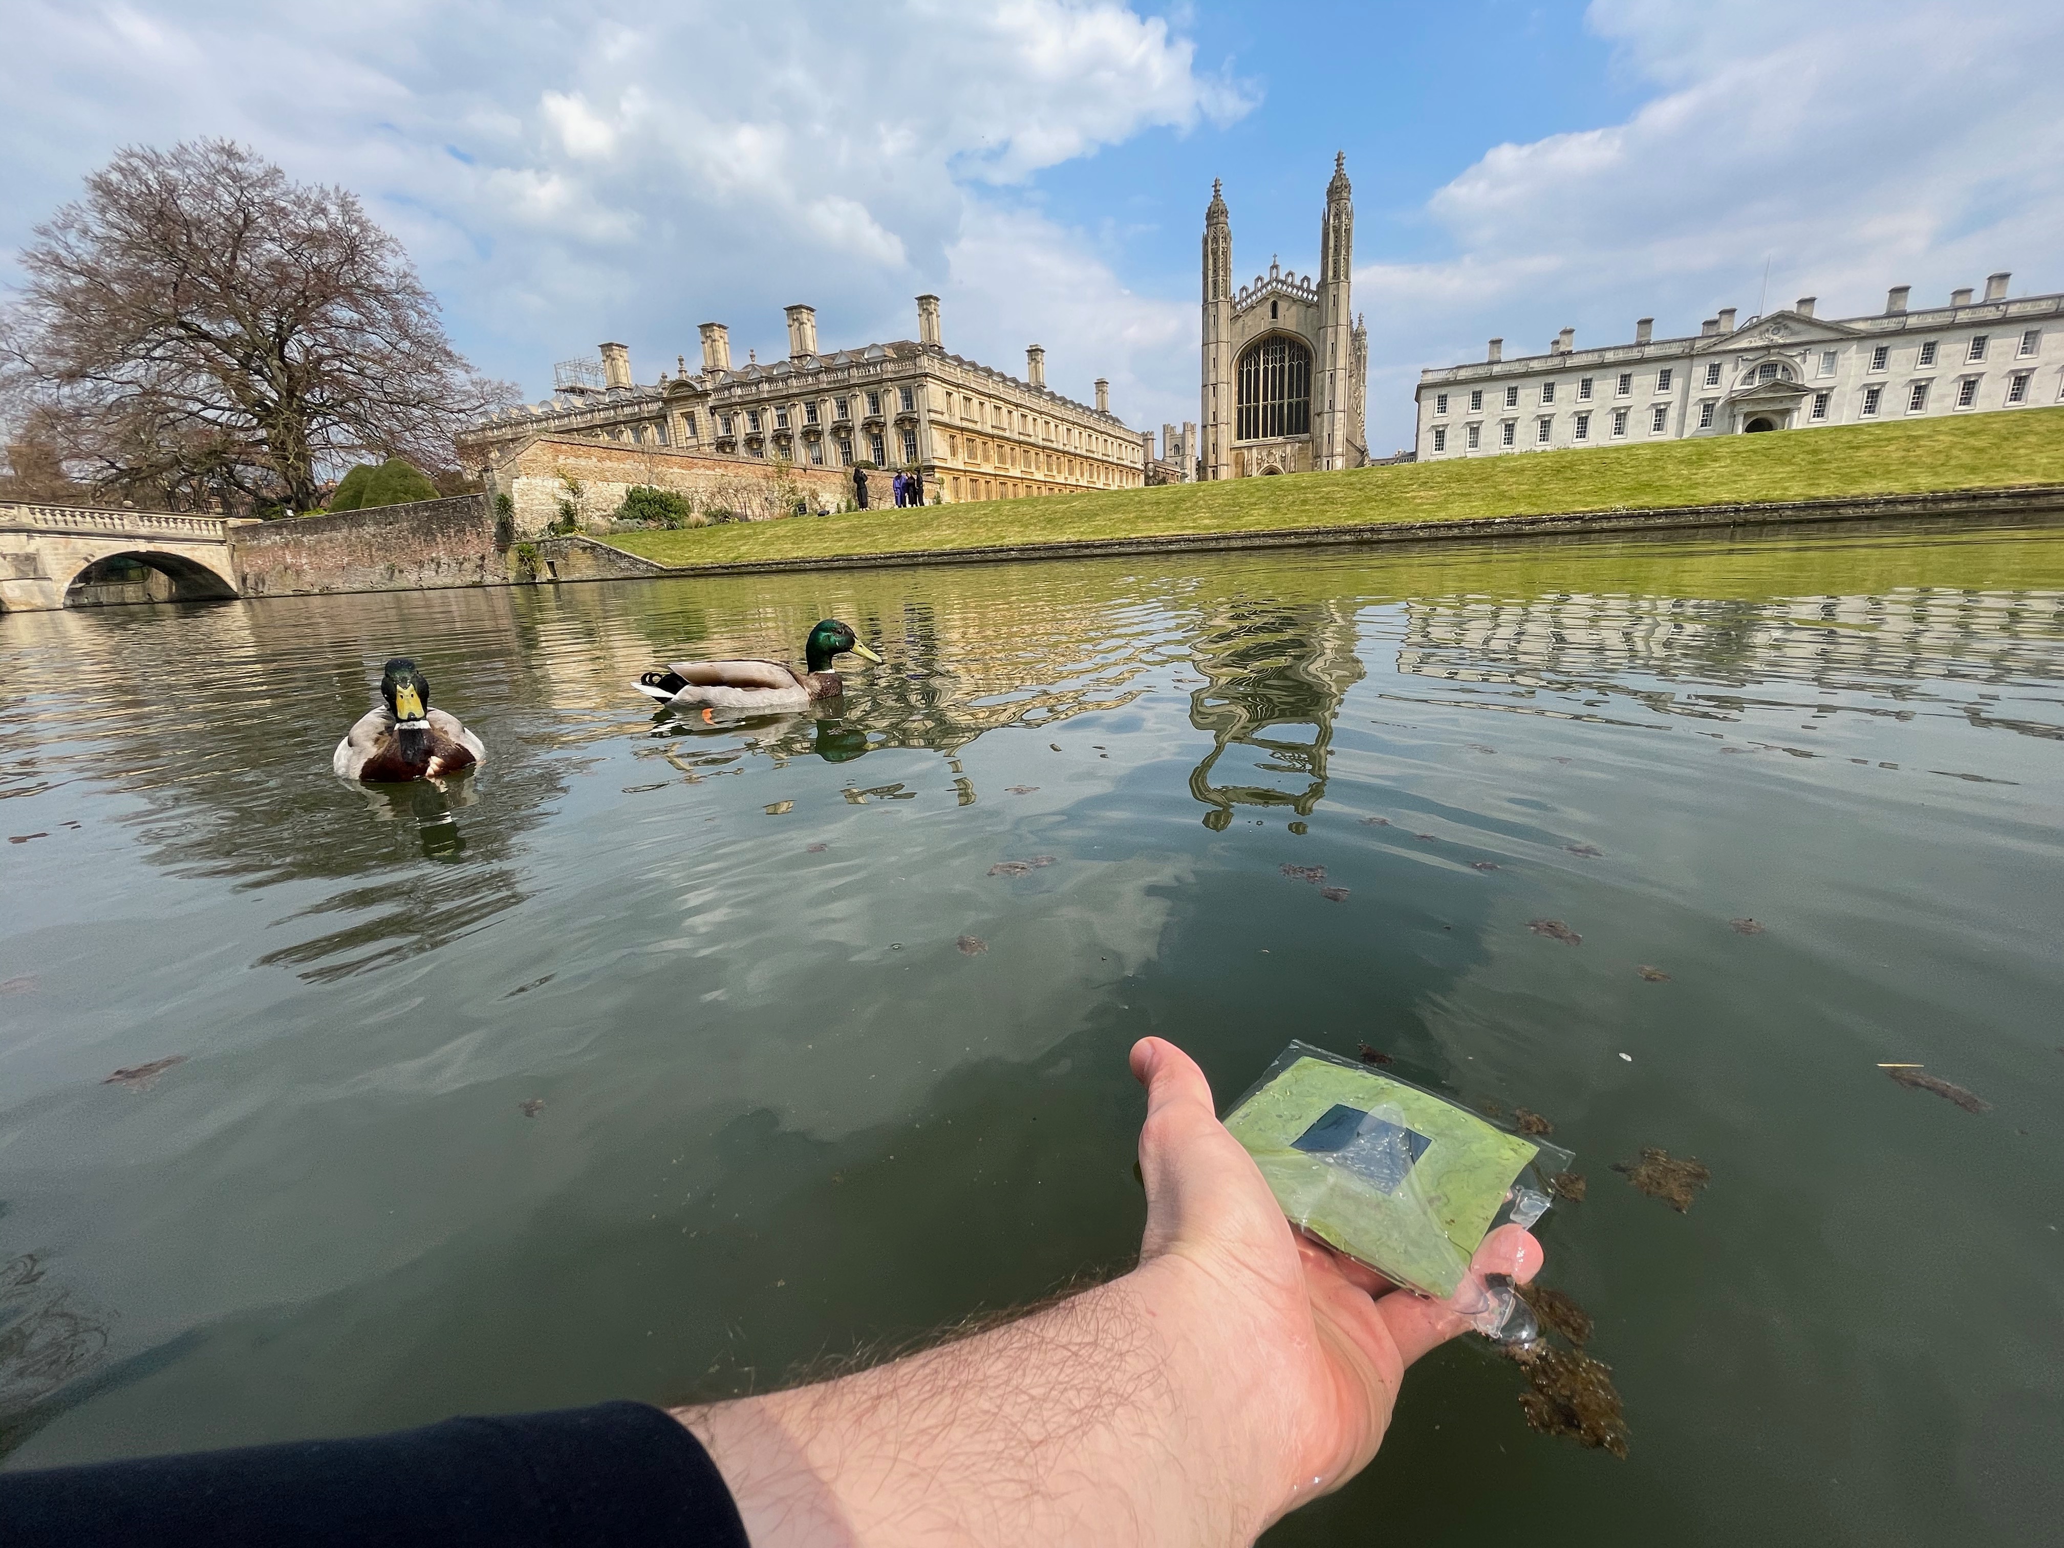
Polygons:
<instances>
[{"instance_id":1,"label":"bare hand and forearm together, reaching from the black sleeve","mask_svg":"<svg viewBox=\"0 0 2064 1548\"><path fill-rule=\"evenodd\" d=\"M1160 1038L1148 1226L1121 1280L815 1387L675 1410L764 1548L1251 1544L1377 1453L1406 1366L1468 1323L1300 1238ZM1527 1232L1472 1273L1529 1280Z\"/></svg>"}]
</instances>

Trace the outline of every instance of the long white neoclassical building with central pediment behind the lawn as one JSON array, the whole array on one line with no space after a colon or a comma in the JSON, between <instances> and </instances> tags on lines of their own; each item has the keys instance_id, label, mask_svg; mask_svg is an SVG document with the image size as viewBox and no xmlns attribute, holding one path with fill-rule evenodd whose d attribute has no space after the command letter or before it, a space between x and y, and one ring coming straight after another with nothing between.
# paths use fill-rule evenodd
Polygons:
<instances>
[{"instance_id":1,"label":"long white neoclassical building with central pediment behind the lawn","mask_svg":"<svg viewBox=\"0 0 2064 1548\"><path fill-rule=\"evenodd\" d=\"M1734 308L1697 336L1577 349L1565 328L1544 355L1420 372L1418 460L1628 446L1816 425L1988 413L2064 400L2064 295L2008 299L2010 275L1986 295L1907 308L1897 285L1884 312L1816 318L1814 297L1736 326Z\"/></svg>"}]
</instances>

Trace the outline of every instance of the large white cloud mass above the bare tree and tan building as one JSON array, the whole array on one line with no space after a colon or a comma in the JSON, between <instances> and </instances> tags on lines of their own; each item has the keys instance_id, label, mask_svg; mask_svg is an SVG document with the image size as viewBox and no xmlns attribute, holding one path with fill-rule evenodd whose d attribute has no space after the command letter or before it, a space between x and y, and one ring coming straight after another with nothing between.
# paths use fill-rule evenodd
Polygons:
<instances>
[{"instance_id":1,"label":"large white cloud mass above the bare tree and tan building","mask_svg":"<svg viewBox=\"0 0 2064 1548\"><path fill-rule=\"evenodd\" d=\"M694 359L706 318L743 357L784 349L780 308L813 301L826 345L852 345L910 336L910 297L939 291L962 353L1022 369L1044 332L1082 392L1106 374L1187 400L1168 310L1127 295L1024 186L1251 107L1119 0L10 10L29 43L0 58L0 246L124 142L227 134L355 188L460 345L533 396L599 338L630 343L650 380ZM1115 407L1141 405L1121 390Z\"/></svg>"}]
</instances>

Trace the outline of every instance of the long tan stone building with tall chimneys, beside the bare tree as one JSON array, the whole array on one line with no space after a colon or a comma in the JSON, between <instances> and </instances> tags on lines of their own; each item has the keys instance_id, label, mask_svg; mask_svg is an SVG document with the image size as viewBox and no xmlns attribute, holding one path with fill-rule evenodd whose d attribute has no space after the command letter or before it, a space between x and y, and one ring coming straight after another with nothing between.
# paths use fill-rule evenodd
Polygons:
<instances>
[{"instance_id":1,"label":"long tan stone building with tall chimneys, beside the bare tree","mask_svg":"<svg viewBox=\"0 0 2064 1548\"><path fill-rule=\"evenodd\" d=\"M945 353L939 297L921 295L918 336L863 349L817 349L817 314L788 308L788 359L731 363L731 330L702 324L702 369L632 382L630 353L603 345L592 367L561 369L559 392L510 409L460 438L469 471L499 487L499 469L539 438L694 454L727 466L776 466L846 481L877 469L871 504L892 504L890 473L914 471L927 502L1020 499L1146 483L1139 436L1096 405L1046 386L1046 351L1026 351L1024 380ZM580 378L580 380L574 380ZM681 464L685 466L685 464ZM836 508L836 502L834 502Z\"/></svg>"}]
</instances>

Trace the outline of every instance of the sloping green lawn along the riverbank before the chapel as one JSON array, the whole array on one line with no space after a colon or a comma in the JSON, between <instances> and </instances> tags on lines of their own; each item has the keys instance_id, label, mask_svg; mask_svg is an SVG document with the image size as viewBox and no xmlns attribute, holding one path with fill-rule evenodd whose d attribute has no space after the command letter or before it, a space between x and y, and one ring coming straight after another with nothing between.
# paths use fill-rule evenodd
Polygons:
<instances>
[{"instance_id":1,"label":"sloping green lawn along the riverbank before the chapel","mask_svg":"<svg viewBox=\"0 0 2064 1548\"><path fill-rule=\"evenodd\" d=\"M875 479L888 485L888 479ZM2064 409L621 533L673 566L2064 483Z\"/></svg>"}]
</instances>

